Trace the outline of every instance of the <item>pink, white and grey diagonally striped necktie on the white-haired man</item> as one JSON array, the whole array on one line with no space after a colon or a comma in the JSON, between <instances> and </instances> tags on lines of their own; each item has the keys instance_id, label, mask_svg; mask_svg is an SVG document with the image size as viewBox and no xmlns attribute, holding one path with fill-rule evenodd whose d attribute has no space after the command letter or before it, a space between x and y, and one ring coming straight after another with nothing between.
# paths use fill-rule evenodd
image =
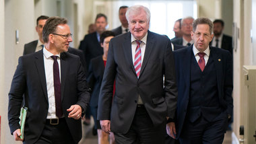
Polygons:
<instances>
[{"instance_id":1,"label":"pink, white and grey diagonally striped necktie on the white-haired man","mask_svg":"<svg viewBox=\"0 0 256 144\"><path fill-rule=\"evenodd\" d=\"M137 78L139 79L139 73L141 69L141 49L140 49L140 44L141 41L136 40L137 43L136 50L135 50L135 57L134 57L134 69L136 71Z\"/></svg>"}]
</instances>

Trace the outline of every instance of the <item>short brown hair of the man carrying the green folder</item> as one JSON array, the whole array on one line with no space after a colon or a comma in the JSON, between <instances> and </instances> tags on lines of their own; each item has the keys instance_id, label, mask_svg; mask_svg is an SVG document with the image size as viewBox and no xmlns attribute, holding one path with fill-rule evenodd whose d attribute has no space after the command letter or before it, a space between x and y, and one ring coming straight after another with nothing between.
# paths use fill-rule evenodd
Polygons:
<instances>
[{"instance_id":1,"label":"short brown hair of the man carrying the green folder","mask_svg":"<svg viewBox=\"0 0 256 144\"><path fill-rule=\"evenodd\" d=\"M59 24L67 24L67 19L63 17L50 17L42 29L42 40L44 42L49 41L49 34L53 34L56 32L56 28Z\"/></svg>"}]
</instances>

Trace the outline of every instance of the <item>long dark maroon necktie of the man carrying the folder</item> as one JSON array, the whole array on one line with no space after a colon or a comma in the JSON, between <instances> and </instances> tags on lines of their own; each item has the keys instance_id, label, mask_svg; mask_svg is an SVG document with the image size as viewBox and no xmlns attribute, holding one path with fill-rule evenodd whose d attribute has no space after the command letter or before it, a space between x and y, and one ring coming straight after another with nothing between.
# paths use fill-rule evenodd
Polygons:
<instances>
[{"instance_id":1,"label":"long dark maroon necktie of the man carrying the folder","mask_svg":"<svg viewBox=\"0 0 256 144\"><path fill-rule=\"evenodd\" d=\"M57 61L57 56L51 56L54 60L53 62L53 83L54 83L54 92L55 92L55 107L56 107L56 116L61 118L63 116L61 108L61 81L59 78L59 64Z\"/></svg>"}]
</instances>

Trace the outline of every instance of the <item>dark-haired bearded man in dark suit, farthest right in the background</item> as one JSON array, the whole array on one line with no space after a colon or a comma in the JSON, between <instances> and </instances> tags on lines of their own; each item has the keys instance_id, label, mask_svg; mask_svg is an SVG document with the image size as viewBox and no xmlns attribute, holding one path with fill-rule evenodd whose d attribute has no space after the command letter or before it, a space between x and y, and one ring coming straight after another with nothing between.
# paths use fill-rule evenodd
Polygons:
<instances>
[{"instance_id":1,"label":"dark-haired bearded man in dark suit, farthest right in the background","mask_svg":"<svg viewBox=\"0 0 256 144\"><path fill-rule=\"evenodd\" d=\"M232 54L232 37L223 34L223 30L223 20L214 20L214 38L212 39L212 42L210 42L210 45L228 50Z\"/></svg>"}]
</instances>

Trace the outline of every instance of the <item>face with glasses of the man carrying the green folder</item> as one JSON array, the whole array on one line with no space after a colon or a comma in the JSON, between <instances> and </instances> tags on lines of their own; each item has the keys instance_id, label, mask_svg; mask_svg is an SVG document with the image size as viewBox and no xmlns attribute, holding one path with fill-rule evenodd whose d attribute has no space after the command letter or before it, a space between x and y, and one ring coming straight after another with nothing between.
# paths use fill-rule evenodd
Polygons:
<instances>
[{"instance_id":1,"label":"face with glasses of the man carrying the green folder","mask_svg":"<svg viewBox=\"0 0 256 144\"><path fill-rule=\"evenodd\" d=\"M55 33L61 35L68 35L70 34L69 26L67 24L59 24L56 28ZM71 36L65 38L65 36L59 36L56 34L49 35L51 36L51 43L54 45L56 52L67 52L69 48L69 42L73 41Z\"/></svg>"}]
</instances>

